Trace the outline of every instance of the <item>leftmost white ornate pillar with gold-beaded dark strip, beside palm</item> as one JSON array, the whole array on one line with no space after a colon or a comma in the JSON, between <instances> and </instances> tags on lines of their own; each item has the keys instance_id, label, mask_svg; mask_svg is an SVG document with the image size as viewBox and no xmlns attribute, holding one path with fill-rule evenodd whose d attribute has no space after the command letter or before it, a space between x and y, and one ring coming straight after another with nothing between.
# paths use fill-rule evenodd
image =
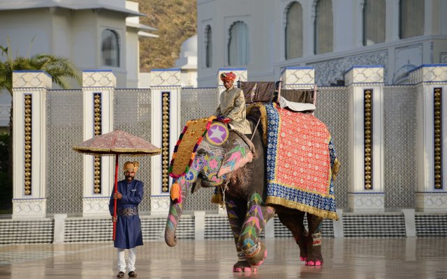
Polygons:
<instances>
[{"instance_id":1,"label":"leftmost white ornate pillar with gold-beaded dark strip, beside palm","mask_svg":"<svg viewBox=\"0 0 447 279\"><path fill-rule=\"evenodd\" d=\"M43 70L13 72L13 218L46 216L46 94Z\"/></svg>"}]
</instances>

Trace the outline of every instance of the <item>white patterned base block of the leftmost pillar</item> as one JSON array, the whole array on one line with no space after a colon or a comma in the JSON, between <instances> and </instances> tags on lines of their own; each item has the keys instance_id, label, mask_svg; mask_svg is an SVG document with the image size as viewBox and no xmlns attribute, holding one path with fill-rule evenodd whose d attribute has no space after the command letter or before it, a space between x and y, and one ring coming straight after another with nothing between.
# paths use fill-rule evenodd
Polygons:
<instances>
[{"instance_id":1,"label":"white patterned base block of the leftmost pillar","mask_svg":"<svg viewBox=\"0 0 447 279\"><path fill-rule=\"evenodd\" d=\"M47 199L13 199L13 219L45 218Z\"/></svg>"}]
</instances>

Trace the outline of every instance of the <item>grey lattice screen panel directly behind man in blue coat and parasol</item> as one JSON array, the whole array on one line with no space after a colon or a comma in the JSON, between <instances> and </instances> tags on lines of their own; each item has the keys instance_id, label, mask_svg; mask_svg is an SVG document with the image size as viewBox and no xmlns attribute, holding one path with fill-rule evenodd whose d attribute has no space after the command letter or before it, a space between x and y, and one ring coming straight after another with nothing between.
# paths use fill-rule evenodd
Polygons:
<instances>
[{"instance_id":1,"label":"grey lattice screen panel directly behind man in blue coat and parasol","mask_svg":"<svg viewBox=\"0 0 447 279\"><path fill-rule=\"evenodd\" d=\"M151 141L151 91L150 89L116 89L114 94L113 128ZM145 183L144 197L138 206L140 212L151 210L151 157L150 156L119 156L118 180L122 176L122 166L126 161L137 160L140 168L136 179ZM105 186L103 186L105 187ZM111 187L111 186L110 186Z\"/></svg>"}]
</instances>

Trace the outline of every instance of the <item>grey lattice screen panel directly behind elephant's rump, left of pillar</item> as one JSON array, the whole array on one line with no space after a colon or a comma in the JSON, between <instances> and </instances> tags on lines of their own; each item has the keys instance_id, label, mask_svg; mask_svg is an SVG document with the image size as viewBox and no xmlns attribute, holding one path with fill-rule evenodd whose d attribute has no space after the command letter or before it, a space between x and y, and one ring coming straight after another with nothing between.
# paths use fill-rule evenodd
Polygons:
<instances>
[{"instance_id":1,"label":"grey lattice screen panel directly behind elephant's rump, left of pillar","mask_svg":"<svg viewBox=\"0 0 447 279\"><path fill-rule=\"evenodd\" d=\"M319 87L316 96L315 116L328 126L340 171L334 182L335 205L339 209L348 207L349 162L349 95L345 86Z\"/></svg>"}]
</instances>

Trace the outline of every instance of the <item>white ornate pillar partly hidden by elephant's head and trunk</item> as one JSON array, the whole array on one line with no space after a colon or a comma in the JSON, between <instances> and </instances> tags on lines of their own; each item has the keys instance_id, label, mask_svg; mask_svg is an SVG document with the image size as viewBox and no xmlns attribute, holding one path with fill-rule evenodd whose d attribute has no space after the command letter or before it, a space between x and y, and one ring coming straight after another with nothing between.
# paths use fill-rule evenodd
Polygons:
<instances>
[{"instance_id":1,"label":"white ornate pillar partly hidden by elephant's head and trunk","mask_svg":"<svg viewBox=\"0 0 447 279\"><path fill-rule=\"evenodd\" d=\"M166 214L169 210L168 176L170 156L181 129L180 69L152 70L152 132L151 142L161 146L161 155L153 156L151 172L151 213Z\"/></svg>"}]
</instances>

